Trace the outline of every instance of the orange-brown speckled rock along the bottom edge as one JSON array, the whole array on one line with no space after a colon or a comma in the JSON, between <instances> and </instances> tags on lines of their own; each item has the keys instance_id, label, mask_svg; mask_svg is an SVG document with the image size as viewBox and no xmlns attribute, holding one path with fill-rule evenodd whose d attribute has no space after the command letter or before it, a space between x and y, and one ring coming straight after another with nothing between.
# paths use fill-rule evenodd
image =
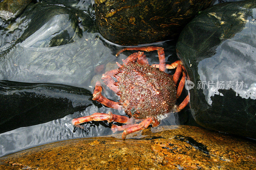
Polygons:
<instances>
[{"instance_id":1,"label":"orange-brown speckled rock along the bottom edge","mask_svg":"<svg viewBox=\"0 0 256 170\"><path fill-rule=\"evenodd\" d=\"M151 131L152 130L152 131ZM116 137L116 138L115 138ZM250 169L256 144L193 126L38 146L0 158L1 169ZM134 139L136 138L136 139Z\"/></svg>"}]
</instances>

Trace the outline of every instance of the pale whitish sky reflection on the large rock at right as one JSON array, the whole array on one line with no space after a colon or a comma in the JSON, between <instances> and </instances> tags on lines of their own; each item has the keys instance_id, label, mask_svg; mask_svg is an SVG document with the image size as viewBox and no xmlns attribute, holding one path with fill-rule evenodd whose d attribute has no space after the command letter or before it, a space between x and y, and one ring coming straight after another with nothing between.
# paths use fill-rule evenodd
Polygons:
<instances>
[{"instance_id":1,"label":"pale whitish sky reflection on the large rock at right","mask_svg":"<svg viewBox=\"0 0 256 170\"><path fill-rule=\"evenodd\" d=\"M213 86L203 89L205 100L209 105L212 104L211 96L223 95L218 91L220 85L217 85L217 82L221 81L226 85L231 82L233 86L231 88L236 95L245 99L256 99L256 22L254 18L256 18L256 9L252 9L252 16L246 18L247 21L241 32L223 41L215 49L215 55L198 63L200 80L214 83ZM226 86L224 88L230 89Z\"/></svg>"}]
</instances>

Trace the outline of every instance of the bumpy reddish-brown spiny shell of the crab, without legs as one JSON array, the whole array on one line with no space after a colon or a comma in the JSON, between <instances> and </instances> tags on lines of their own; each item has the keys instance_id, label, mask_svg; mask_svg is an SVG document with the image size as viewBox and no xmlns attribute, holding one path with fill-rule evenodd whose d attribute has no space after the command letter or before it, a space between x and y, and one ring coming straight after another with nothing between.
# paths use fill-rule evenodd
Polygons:
<instances>
[{"instance_id":1,"label":"bumpy reddish-brown spiny shell of the crab, without legs","mask_svg":"<svg viewBox=\"0 0 256 170\"><path fill-rule=\"evenodd\" d=\"M143 55L143 52L139 53ZM124 62L117 71L114 85L119 89L119 102L127 115L146 119L172 111L176 103L176 88L171 75L150 66L148 62L138 61Z\"/></svg>"}]
</instances>

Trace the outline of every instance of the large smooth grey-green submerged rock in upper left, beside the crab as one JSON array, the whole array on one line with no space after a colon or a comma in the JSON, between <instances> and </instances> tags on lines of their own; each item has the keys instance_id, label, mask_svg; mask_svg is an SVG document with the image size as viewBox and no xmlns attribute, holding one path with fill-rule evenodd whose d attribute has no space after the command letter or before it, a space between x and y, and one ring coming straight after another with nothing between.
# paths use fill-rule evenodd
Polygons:
<instances>
[{"instance_id":1,"label":"large smooth grey-green submerged rock in upper left, beside the crab","mask_svg":"<svg viewBox=\"0 0 256 170\"><path fill-rule=\"evenodd\" d=\"M31 3L0 27L0 79L88 87L94 66L106 62L111 49L95 33L91 7L77 8Z\"/></svg>"}]
</instances>

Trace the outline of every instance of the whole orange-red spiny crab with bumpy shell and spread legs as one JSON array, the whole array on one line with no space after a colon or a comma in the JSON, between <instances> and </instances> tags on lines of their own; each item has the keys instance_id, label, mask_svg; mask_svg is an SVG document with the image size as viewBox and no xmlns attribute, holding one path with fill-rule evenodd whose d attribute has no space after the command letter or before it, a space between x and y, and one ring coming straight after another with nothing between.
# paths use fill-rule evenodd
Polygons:
<instances>
[{"instance_id":1,"label":"whole orange-red spiny crab with bumpy shell and spread legs","mask_svg":"<svg viewBox=\"0 0 256 170\"><path fill-rule=\"evenodd\" d=\"M127 59L123 60L123 65L116 62L119 68L106 72L101 79L109 89L120 97L120 100L115 102L105 98L101 94L100 81L96 82L92 100L97 100L106 107L117 110L124 109L129 117L115 115L111 112L108 114L94 113L90 116L73 119L73 125L76 126L89 121L123 123L125 124L123 126L112 124L111 130L113 132L124 130L122 138L125 139L128 134L146 129L150 124L152 127L157 127L165 115L180 112L188 105L189 96L179 106L175 105L183 90L186 78L185 69L180 60L172 64L165 64L164 48L154 46L123 48L117 52L116 56L125 50L147 52L157 50L159 64L150 66L144 52L141 51L128 56ZM176 71L170 75L165 72L166 68L176 68ZM182 78L176 90L181 73Z\"/></svg>"}]
</instances>

